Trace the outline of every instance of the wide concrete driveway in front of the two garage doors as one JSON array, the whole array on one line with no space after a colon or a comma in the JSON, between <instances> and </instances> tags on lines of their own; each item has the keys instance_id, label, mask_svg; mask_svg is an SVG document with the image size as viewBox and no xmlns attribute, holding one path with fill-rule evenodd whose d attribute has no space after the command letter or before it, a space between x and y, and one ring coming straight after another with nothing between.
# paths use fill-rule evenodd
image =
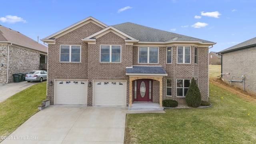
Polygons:
<instances>
[{"instance_id":1,"label":"wide concrete driveway in front of the two garage doors","mask_svg":"<svg viewBox=\"0 0 256 144\"><path fill-rule=\"evenodd\" d=\"M123 144L128 107L51 105L1 144Z\"/></svg>"}]
</instances>

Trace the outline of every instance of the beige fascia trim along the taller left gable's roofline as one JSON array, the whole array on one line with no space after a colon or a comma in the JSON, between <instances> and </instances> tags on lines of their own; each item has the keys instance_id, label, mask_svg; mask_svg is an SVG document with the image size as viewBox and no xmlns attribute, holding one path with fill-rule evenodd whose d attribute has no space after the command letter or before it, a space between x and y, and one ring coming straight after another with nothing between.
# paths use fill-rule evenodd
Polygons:
<instances>
[{"instance_id":1,"label":"beige fascia trim along the taller left gable's roofline","mask_svg":"<svg viewBox=\"0 0 256 144\"><path fill-rule=\"evenodd\" d=\"M64 34L67 34L68 32L71 32L72 30L75 30L79 28L80 26L83 26L84 24L88 24L89 22L93 22L94 24L100 26L101 28L106 28L108 25L104 24L103 22L100 22L99 20L96 20L92 16L89 16L88 18L85 18L84 20L81 20L79 22L76 22L75 24L72 24L71 26L68 26L67 28L64 28L46 38L43 38L43 40L48 40L49 38L58 38L60 36L63 36Z\"/></svg>"}]
</instances>

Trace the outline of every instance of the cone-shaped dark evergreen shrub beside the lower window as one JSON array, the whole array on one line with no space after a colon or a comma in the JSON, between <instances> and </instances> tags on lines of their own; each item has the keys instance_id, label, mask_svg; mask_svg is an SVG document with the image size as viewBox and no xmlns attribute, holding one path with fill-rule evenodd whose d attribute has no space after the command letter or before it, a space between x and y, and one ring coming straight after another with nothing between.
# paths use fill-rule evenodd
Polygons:
<instances>
[{"instance_id":1,"label":"cone-shaped dark evergreen shrub beside the lower window","mask_svg":"<svg viewBox=\"0 0 256 144\"><path fill-rule=\"evenodd\" d=\"M201 104L201 92L196 84L196 80L192 78L192 82L188 87L188 91L186 93L186 104L193 108L197 108Z\"/></svg>"}]
</instances>

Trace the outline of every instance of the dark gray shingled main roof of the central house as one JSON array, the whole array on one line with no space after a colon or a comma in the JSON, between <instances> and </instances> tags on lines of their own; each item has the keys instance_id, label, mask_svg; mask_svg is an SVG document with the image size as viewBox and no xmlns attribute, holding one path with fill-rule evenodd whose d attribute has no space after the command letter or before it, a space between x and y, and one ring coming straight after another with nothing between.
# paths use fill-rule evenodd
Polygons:
<instances>
[{"instance_id":1,"label":"dark gray shingled main roof of the central house","mask_svg":"<svg viewBox=\"0 0 256 144\"><path fill-rule=\"evenodd\" d=\"M114 28L128 34L129 36L140 40L140 42L168 42L168 41L199 41L210 42L201 40L190 36L184 36L164 30L158 30L131 22L113 25ZM213 42L210 42L213 43Z\"/></svg>"}]
</instances>

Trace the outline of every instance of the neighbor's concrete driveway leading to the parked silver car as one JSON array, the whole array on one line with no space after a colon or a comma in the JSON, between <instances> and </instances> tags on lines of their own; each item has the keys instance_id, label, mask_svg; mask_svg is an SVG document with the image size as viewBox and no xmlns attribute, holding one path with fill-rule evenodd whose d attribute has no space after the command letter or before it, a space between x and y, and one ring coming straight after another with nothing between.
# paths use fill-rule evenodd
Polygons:
<instances>
[{"instance_id":1,"label":"neighbor's concrete driveway leading to the parked silver car","mask_svg":"<svg viewBox=\"0 0 256 144\"><path fill-rule=\"evenodd\" d=\"M26 88L38 84L38 82L12 82L10 84L0 84L0 102L6 100L10 96L13 96L14 94L25 90Z\"/></svg>"}]
</instances>

